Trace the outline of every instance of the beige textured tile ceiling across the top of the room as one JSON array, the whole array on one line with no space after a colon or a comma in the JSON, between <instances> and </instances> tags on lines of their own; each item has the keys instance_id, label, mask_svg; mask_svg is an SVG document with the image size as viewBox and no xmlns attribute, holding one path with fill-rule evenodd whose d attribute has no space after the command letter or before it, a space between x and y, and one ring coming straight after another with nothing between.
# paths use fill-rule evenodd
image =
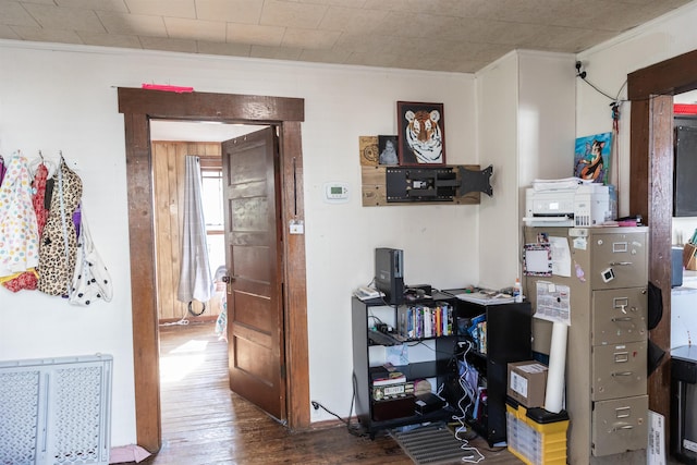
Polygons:
<instances>
[{"instance_id":1,"label":"beige textured tile ceiling across the top of the room","mask_svg":"<svg viewBox=\"0 0 697 465\"><path fill-rule=\"evenodd\" d=\"M0 0L0 38L473 73L577 53L689 0Z\"/></svg>"}]
</instances>

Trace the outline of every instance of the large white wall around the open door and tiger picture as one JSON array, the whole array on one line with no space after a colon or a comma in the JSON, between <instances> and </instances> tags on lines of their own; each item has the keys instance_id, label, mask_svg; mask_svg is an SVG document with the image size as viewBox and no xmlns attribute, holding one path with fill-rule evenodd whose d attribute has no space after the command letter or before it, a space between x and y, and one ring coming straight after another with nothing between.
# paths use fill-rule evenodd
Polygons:
<instances>
[{"instance_id":1,"label":"large white wall around the open door and tiger picture","mask_svg":"<svg viewBox=\"0 0 697 465\"><path fill-rule=\"evenodd\" d=\"M0 359L112 354L113 445L136 440L125 149L115 87L158 83L305 99L310 396L333 412L348 414L350 297L371 280L375 247L404 249L407 283L444 289L478 281L478 206L364 208L358 166L359 136L396 134L398 100L443 102L448 162L476 163L473 75L9 40L0 41L0 154L21 149L35 158L41 150L56 160L62 150L78 164L91 233L114 282L113 301L90 308L0 289ZM323 203L327 181L348 183L350 201ZM311 412L313 420L328 418Z\"/></svg>"}]
</instances>

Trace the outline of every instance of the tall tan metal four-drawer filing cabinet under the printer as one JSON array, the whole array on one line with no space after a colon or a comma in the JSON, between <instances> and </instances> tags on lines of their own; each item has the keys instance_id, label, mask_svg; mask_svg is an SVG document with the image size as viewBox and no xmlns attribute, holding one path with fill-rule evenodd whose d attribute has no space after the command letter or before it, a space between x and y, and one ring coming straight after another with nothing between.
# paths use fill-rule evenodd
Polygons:
<instances>
[{"instance_id":1,"label":"tall tan metal four-drawer filing cabinet under the printer","mask_svg":"<svg viewBox=\"0 0 697 465\"><path fill-rule=\"evenodd\" d=\"M538 282L568 286L568 463L645 462L648 228L525 228L526 244L545 236L567 243L571 277L526 277L525 295L536 308ZM550 332L534 325L534 350L545 352Z\"/></svg>"}]
</instances>

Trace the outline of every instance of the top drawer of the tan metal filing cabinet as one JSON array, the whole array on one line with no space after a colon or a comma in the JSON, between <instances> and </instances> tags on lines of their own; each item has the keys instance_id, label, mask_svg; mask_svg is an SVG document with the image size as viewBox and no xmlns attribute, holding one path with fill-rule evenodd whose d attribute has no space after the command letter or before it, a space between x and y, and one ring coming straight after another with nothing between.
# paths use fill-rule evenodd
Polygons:
<instances>
[{"instance_id":1,"label":"top drawer of the tan metal filing cabinet","mask_svg":"<svg viewBox=\"0 0 697 465\"><path fill-rule=\"evenodd\" d=\"M588 241L592 289L646 286L649 253L646 233L594 234Z\"/></svg>"}]
</instances>

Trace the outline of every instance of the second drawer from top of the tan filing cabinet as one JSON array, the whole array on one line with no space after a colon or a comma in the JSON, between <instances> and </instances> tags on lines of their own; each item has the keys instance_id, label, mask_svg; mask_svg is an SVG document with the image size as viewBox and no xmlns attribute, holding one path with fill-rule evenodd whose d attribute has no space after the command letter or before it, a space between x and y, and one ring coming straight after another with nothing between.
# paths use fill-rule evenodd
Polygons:
<instances>
[{"instance_id":1,"label":"second drawer from top of the tan filing cabinet","mask_svg":"<svg viewBox=\"0 0 697 465\"><path fill-rule=\"evenodd\" d=\"M647 287L627 287L592 293L592 345L646 341Z\"/></svg>"}]
</instances>

